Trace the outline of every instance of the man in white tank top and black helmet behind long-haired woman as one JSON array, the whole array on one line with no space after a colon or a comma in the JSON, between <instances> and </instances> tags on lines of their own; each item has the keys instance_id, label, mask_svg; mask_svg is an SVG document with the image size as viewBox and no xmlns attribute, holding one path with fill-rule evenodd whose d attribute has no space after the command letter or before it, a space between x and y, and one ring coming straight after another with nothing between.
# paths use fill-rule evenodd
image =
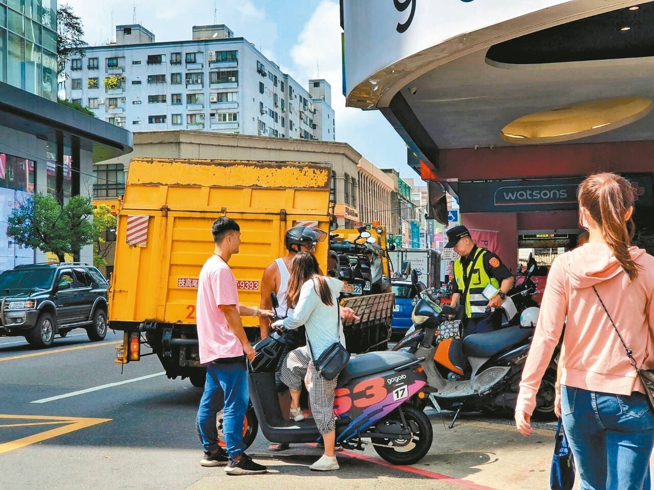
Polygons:
<instances>
[{"instance_id":1,"label":"man in white tank top and black helmet behind long-haired woman","mask_svg":"<svg viewBox=\"0 0 654 490\"><path fill-rule=\"evenodd\" d=\"M288 253L284 257L275 259L266 270L264 270L264 277L261 280L261 305L262 310L271 310L273 304L270 300L270 294L273 291L277 294L277 301L279 301L279 309L277 314L286 316L286 290L288 289L288 278L290 277L291 262L298 252L314 253L316 251L316 244L322 242L327 237L327 234L318 228L308 226L294 226L284 235L284 246ZM358 317L352 308L341 308L341 319L351 320ZM266 338L270 330L270 320L267 318L259 319L259 327L261 329L261 338ZM303 327L301 327L303 329ZM299 330L299 329L298 329ZM288 334L287 334L288 335ZM287 336L287 341L290 340L290 345L284 349L288 353L295 348L303 345L305 335L303 331L296 332L294 338ZM283 361L286 359L283 356ZM288 449L287 443L273 442L268 446L270 451L283 451Z\"/></svg>"}]
</instances>

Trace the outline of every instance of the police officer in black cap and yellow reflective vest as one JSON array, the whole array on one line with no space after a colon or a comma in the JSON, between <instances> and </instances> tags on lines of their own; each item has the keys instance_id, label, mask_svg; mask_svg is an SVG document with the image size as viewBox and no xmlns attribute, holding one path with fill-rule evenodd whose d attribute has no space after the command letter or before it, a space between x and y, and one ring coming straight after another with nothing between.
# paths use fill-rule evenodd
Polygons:
<instances>
[{"instance_id":1,"label":"police officer in black cap and yellow reflective vest","mask_svg":"<svg viewBox=\"0 0 654 490\"><path fill-rule=\"evenodd\" d=\"M447 231L445 248L453 248L459 255L454 263L452 306L462 302L466 311L463 336L491 332L502 326L500 308L506 293L513 286L513 276L500 257L485 248L477 247L470 231L463 225ZM490 301L482 294L488 285L499 289ZM490 308L488 312L487 308Z\"/></svg>"}]
</instances>

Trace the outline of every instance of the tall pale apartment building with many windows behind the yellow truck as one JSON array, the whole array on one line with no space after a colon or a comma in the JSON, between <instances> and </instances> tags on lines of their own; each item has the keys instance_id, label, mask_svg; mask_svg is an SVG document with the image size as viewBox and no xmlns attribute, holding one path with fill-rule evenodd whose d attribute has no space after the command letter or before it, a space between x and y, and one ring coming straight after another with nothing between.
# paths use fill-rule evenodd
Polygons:
<instances>
[{"instance_id":1,"label":"tall pale apartment building with many windows behind the yellow truck","mask_svg":"<svg viewBox=\"0 0 654 490\"><path fill-rule=\"evenodd\" d=\"M335 140L328 82L303 88L223 24L196 25L192 40L176 42L118 25L115 43L85 48L65 74L67 99L130 131Z\"/></svg>"}]
</instances>

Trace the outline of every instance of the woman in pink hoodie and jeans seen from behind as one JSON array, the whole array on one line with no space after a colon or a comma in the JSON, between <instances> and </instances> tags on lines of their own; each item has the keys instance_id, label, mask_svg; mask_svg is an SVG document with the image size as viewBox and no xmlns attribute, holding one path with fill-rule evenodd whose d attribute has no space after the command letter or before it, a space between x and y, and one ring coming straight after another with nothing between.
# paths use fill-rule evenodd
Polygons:
<instances>
[{"instance_id":1,"label":"woman in pink hoodie and jeans seen from behind","mask_svg":"<svg viewBox=\"0 0 654 490\"><path fill-rule=\"evenodd\" d=\"M579 186L589 243L554 261L520 384L515 425L528 436L541 378L563 335L557 415L581 490L649 490L654 415L606 310L639 368L654 367L654 257L630 246L634 195L616 174ZM600 299L602 302L600 302Z\"/></svg>"}]
</instances>

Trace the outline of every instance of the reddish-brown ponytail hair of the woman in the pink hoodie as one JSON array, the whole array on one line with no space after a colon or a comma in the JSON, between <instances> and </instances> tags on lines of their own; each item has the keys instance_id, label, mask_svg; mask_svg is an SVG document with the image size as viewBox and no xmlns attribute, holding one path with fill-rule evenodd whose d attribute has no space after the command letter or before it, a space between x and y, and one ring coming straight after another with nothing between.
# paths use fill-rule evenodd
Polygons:
<instances>
[{"instance_id":1,"label":"reddish-brown ponytail hair of the woman in the pink hoodie","mask_svg":"<svg viewBox=\"0 0 654 490\"><path fill-rule=\"evenodd\" d=\"M629 254L635 232L634 221L632 218L625 221L627 210L633 205L633 189L624 177L617 174L594 174L579 186L579 206L585 208L600 226L606 244L630 280L638 276L636 263Z\"/></svg>"}]
</instances>

